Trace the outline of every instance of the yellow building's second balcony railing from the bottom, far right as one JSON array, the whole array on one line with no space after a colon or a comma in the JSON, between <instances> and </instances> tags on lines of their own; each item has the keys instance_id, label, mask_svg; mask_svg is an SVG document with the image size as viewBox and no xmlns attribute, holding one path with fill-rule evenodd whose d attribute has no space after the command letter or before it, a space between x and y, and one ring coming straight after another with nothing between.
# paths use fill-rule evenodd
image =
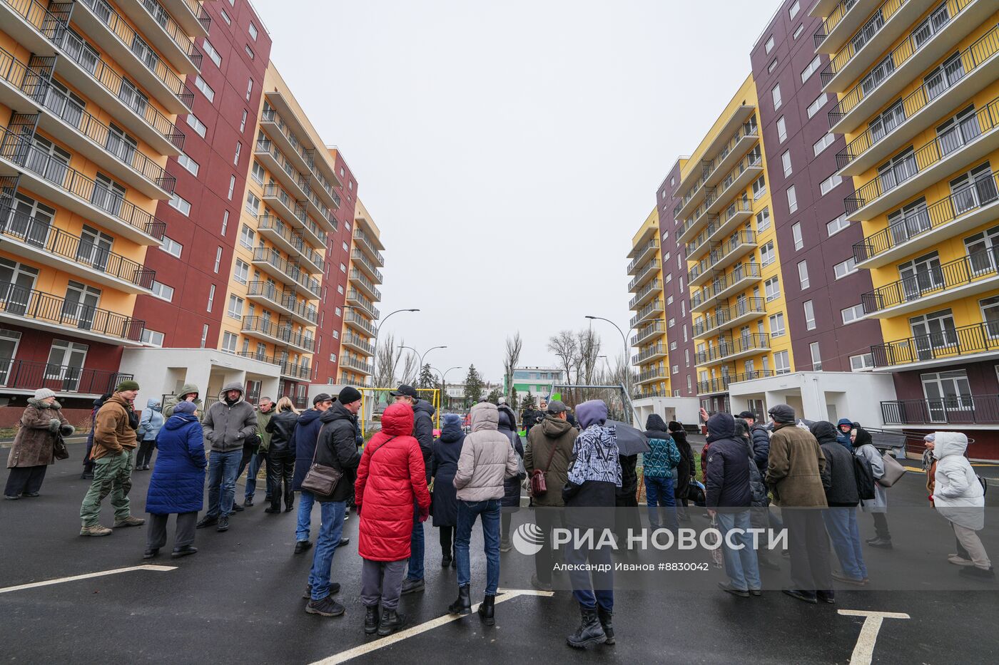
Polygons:
<instances>
[{"instance_id":1,"label":"yellow building's second balcony railing from the bottom, far right","mask_svg":"<svg viewBox=\"0 0 999 665\"><path fill-rule=\"evenodd\" d=\"M871 346L874 366L929 360L959 361L962 355L999 351L999 323L986 322L919 334Z\"/></svg>"}]
</instances>

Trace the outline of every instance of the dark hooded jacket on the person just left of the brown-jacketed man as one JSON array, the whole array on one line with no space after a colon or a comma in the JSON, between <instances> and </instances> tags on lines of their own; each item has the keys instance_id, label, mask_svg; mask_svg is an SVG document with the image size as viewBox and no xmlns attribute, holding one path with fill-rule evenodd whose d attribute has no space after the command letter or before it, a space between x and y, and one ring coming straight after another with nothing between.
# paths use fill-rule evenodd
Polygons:
<instances>
[{"instance_id":1,"label":"dark hooded jacket on the person just left of the brown-jacketed man","mask_svg":"<svg viewBox=\"0 0 999 665\"><path fill-rule=\"evenodd\" d=\"M748 507L749 447L735 435L731 413L715 413L707 419L707 440L711 444L704 471L705 502L708 507Z\"/></svg>"}]
</instances>

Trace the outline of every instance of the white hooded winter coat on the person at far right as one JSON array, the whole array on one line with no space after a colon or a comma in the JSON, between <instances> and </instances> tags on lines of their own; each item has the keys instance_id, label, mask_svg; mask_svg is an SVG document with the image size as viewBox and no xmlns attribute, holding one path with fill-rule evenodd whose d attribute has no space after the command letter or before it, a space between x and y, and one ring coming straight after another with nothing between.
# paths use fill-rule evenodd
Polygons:
<instances>
[{"instance_id":1,"label":"white hooded winter coat on the person at far right","mask_svg":"<svg viewBox=\"0 0 999 665\"><path fill-rule=\"evenodd\" d=\"M985 526L985 490L964 456L967 447L968 437L960 432L936 432L933 505L950 521L980 531Z\"/></svg>"}]
</instances>

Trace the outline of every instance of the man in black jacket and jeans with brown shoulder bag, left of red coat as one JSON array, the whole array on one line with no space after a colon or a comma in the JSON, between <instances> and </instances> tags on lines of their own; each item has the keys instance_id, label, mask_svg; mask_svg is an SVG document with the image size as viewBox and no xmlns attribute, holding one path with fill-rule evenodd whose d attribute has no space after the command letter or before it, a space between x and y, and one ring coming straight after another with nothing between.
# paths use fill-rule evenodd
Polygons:
<instances>
[{"instance_id":1,"label":"man in black jacket and jeans with brown shoulder bag, left of red coat","mask_svg":"<svg viewBox=\"0 0 999 665\"><path fill-rule=\"evenodd\" d=\"M356 470L361 463L361 452L354 437L355 421L360 408L361 392L348 386L340 391L333 406L320 416L323 428L320 429L316 443L316 463L332 466L343 473L343 476L334 485L331 494L316 494L316 500L322 507L323 525L316 539L316 554L309 573L307 591L310 600L306 605L306 612L309 614L340 616L345 611L344 606L333 599L333 594L340 591L340 584L330 582L330 573L333 555L344 532L347 499L354 488Z\"/></svg>"}]
</instances>

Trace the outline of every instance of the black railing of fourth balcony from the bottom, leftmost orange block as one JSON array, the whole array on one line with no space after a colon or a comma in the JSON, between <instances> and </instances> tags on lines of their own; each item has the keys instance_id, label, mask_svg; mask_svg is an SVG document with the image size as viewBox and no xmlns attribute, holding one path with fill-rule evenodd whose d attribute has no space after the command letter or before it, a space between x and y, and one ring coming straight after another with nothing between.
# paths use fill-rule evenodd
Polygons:
<instances>
[{"instance_id":1,"label":"black railing of fourth balcony from the bottom, leftmost orange block","mask_svg":"<svg viewBox=\"0 0 999 665\"><path fill-rule=\"evenodd\" d=\"M83 199L123 224L138 229L147 236L163 240L167 225L142 210L120 194L97 183L76 169L71 169L30 142L0 128L0 157L19 168L36 174L52 186Z\"/></svg>"}]
</instances>

